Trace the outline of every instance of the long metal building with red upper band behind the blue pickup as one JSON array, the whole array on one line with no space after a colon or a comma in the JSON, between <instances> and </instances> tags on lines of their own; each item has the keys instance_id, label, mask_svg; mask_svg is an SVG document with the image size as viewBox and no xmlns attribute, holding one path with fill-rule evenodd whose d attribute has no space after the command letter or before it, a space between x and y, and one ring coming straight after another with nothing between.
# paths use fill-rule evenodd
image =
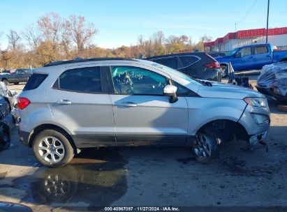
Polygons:
<instances>
[{"instance_id":1,"label":"long metal building with red upper band behind the blue pickup","mask_svg":"<svg viewBox=\"0 0 287 212\"><path fill-rule=\"evenodd\" d=\"M266 42L266 29L248 29L230 32L223 38L204 43L207 52L228 52L243 45ZM287 27L268 29L268 43L287 50Z\"/></svg>"}]
</instances>

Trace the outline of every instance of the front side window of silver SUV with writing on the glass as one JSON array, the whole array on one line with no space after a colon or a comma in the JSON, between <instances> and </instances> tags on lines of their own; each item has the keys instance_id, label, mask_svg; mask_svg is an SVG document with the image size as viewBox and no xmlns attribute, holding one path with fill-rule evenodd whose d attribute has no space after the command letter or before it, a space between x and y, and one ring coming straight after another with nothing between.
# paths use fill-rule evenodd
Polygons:
<instances>
[{"instance_id":1,"label":"front side window of silver SUV with writing on the glass","mask_svg":"<svg viewBox=\"0 0 287 212\"><path fill-rule=\"evenodd\" d=\"M163 95L168 79L151 70L133 66L112 66L115 93L123 95Z\"/></svg>"}]
</instances>

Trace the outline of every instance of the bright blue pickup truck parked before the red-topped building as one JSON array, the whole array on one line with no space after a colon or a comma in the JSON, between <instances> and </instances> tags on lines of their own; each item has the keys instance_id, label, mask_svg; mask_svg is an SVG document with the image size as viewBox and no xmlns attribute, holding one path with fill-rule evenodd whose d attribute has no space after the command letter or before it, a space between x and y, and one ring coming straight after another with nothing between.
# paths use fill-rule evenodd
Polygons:
<instances>
[{"instance_id":1,"label":"bright blue pickup truck parked before the red-topped building","mask_svg":"<svg viewBox=\"0 0 287 212\"><path fill-rule=\"evenodd\" d=\"M235 71L261 69L270 63L287 61L287 51L274 51L270 44L246 45L228 52L226 56L216 57L221 68L230 62Z\"/></svg>"}]
</instances>

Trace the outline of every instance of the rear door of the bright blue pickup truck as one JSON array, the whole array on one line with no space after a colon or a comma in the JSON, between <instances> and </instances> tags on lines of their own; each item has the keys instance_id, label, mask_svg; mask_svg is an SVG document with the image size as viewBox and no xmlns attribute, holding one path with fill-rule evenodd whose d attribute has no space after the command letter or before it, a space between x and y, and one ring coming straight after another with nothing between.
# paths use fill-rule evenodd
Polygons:
<instances>
[{"instance_id":1,"label":"rear door of the bright blue pickup truck","mask_svg":"<svg viewBox=\"0 0 287 212\"><path fill-rule=\"evenodd\" d=\"M268 52L267 45L254 47L254 67L262 68L272 63L272 52Z\"/></svg>"}]
</instances>

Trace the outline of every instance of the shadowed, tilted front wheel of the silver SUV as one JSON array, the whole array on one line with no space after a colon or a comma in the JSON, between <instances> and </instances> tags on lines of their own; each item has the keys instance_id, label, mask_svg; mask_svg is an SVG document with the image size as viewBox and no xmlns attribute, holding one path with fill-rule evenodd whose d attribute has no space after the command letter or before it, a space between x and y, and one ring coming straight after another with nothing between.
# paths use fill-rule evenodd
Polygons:
<instances>
[{"instance_id":1,"label":"shadowed, tilted front wheel of the silver SUV","mask_svg":"<svg viewBox=\"0 0 287 212\"><path fill-rule=\"evenodd\" d=\"M193 153L198 162L210 162L216 156L217 149L217 139L214 136L205 131L196 133L196 139L193 142Z\"/></svg>"}]
</instances>

